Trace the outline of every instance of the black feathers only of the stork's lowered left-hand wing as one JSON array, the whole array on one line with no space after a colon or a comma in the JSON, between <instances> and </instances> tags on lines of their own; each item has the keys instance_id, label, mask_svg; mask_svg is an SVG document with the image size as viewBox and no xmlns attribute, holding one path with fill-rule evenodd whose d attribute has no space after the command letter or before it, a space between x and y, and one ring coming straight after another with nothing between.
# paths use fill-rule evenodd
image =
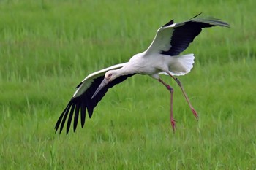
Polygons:
<instances>
[{"instance_id":1,"label":"black feathers only of the stork's lowered left-hand wing","mask_svg":"<svg viewBox=\"0 0 256 170\"><path fill-rule=\"evenodd\" d=\"M67 134L68 134L70 125L72 123L72 116L74 111L75 111L75 117L74 117L73 123L74 123L74 131L75 131L78 124L79 108L80 108L81 126L83 128L83 125L85 124L85 121L86 121L86 109L88 111L89 117L91 118L94 112L94 107L96 107L99 101L103 98L103 96L105 96L105 93L107 93L108 89L112 88L114 85L117 85L120 82L123 82L128 77L131 77L133 75L135 74L128 74L128 75L124 75L116 78L112 82L109 82L108 85L106 85L104 88L102 88L102 90L99 91L97 96L94 96L94 98L91 99L95 90L97 90L99 84L104 79L104 76L95 78L91 83L90 87L85 91L85 93L83 93L78 97L71 98L71 100L69 101L69 104L64 109L61 116L59 117L59 120L56 123L56 126L55 126L56 131L58 131L58 128L61 125L59 129L59 133L61 134L61 131L67 119L67 115L69 114L69 119L67 121Z\"/></svg>"}]
</instances>

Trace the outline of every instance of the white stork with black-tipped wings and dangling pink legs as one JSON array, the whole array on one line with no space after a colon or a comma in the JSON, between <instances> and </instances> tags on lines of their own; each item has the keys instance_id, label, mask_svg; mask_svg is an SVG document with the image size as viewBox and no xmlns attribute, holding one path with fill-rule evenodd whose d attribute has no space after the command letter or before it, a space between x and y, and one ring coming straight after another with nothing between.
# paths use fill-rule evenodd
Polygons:
<instances>
[{"instance_id":1,"label":"white stork with black-tipped wings and dangling pink legs","mask_svg":"<svg viewBox=\"0 0 256 170\"><path fill-rule=\"evenodd\" d=\"M135 74L149 75L161 82L170 92L170 124L172 125L173 131L176 128L176 121L173 118L173 88L164 82L159 77L159 74L169 75L178 83L193 115L198 118L197 112L192 107L181 82L175 77L189 73L193 67L195 57L194 54L180 54L200 34L202 28L213 26L229 27L228 23L217 18L198 18L198 15L182 23L174 23L173 20L170 20L157 30L157 34L147 50L133 55L127 63L119 63L89 74L76 87L77 90L60 115L59 120L57 120L55 126L56 132L59 129L59 133L61 133L66 120L66 133L68 134L69 132L72 120L73 130L75 131L78 125L79 115L83 128L86 121L86 110L89 118L91 118L94 107L105 96L108 89Z\"/></svg>"}]
</instances>

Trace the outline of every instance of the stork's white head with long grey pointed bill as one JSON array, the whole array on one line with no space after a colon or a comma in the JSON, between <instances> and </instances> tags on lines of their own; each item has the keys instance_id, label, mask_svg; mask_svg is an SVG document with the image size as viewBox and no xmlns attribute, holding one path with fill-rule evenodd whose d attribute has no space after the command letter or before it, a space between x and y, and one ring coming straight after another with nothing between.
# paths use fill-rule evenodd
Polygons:
<instances>
[{"instance_id":1,"label":"stork's white head with long grey pointed bill","mask_svg":"<svg viewBox=\"0 0 256 170\"><path fill-rule=\"evenodd\" d=\"M118 77L118 72L116 72L116 70L110 70L110 71L106 72L104 79L100 83L97 90L95 90L94 95L91 98L94 98L94 96L96 96L97 93L99 93L99 91L102 90L102 88L104 88L106 85L108 85L109 82L115 80L116 77Z\"/></svg>"}]
</instances>

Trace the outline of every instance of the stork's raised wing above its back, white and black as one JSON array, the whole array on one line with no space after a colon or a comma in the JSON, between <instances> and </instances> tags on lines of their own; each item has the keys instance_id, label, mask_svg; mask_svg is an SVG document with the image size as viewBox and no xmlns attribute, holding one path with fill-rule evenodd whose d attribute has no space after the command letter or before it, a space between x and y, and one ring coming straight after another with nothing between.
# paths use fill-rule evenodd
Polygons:
<instances>
[{"instance_id":1,"label":"stork's raised wing above its back, white and black","mask_svg":"<svg viewBox=\"0 0 256 170\"><path fill-rule=\"evenodd\" d=\"M173 20L170 20L159 28L153 42L146 50L145 56L152 53L179 55L189 47L202 28L229 27L227 23L217 18L197 18L198 15L183 23L173 23Z\"/></svg>"}]
</instances>

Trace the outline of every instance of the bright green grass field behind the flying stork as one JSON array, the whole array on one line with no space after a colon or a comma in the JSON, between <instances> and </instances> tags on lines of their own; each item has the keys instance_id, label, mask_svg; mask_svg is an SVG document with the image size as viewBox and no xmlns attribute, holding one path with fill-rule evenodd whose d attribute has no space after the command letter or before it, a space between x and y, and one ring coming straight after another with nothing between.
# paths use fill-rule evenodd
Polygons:
<instances>
[{"instance_id":1,"label":"bright green grass field behind the flying stork","mask_svg":"<svg viewBox=\"0 0 256 170\"><path fill-rule=\"evenodd\" d=\"M0 1L0 169L256 169L256 2ZM109 90L85 128L54 134L87 74L146 50L157 28L197 13L203 30L179 77L200 115L137 75Z\"/></svg>"}]
</instances>

